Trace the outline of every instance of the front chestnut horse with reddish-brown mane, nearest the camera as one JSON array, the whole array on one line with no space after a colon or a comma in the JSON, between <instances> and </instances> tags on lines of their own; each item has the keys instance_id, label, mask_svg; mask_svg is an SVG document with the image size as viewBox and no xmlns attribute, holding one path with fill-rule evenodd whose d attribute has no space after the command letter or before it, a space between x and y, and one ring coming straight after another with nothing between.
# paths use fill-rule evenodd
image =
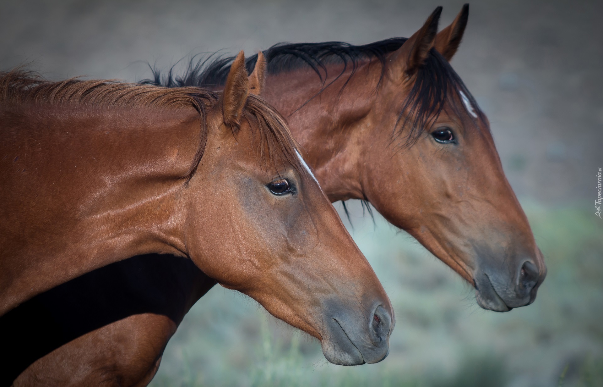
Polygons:
<instances>
[{"instance_id":1,"label":"front chestnut horse with reddish-brown mane, nearest the camera","mask_svg":"<svg viewBox=\"0 0 603 387\"><path fill-rule=\"evenodd\" d=\"M0 75L0 313L172 254L317 337L330 362L387 356L390 301L244 61L220 93ZM139 379L97 369L75 383L148 383L157 359L133 360Z\"/></svg>"}]
</instances>

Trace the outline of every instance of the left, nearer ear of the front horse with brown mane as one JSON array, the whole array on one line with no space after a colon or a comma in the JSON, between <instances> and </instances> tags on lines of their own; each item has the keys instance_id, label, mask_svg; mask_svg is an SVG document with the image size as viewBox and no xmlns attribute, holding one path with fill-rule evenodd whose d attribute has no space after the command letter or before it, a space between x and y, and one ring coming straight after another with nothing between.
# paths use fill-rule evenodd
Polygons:
<instances>
[{"instance_id":1,"label":"left, nearer ear of the front horse with brown mane","mask_svg":"<svg viewBox=\"0 0 603 387\"><path fill-rule=\"evenodd\" d=\"M230 66L226 86L222 92L222 112L224 123L230 126L239 126L241 112L247 101L249 93L249 78L245 68L245 54L241 51Z\"/></svg>"}]
</instances>

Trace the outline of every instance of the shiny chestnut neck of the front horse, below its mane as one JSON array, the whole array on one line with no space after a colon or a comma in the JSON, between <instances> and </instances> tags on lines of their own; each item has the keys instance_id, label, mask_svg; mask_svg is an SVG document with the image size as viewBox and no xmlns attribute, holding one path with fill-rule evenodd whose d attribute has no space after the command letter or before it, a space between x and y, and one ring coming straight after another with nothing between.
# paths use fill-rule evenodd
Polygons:
<instances>
[{"instance_id":1,"label":"shiny chestnut neck of the front horse, below its mane","mask_svg":"<svg viewBox=\"0 0 603 387\"><path fill-rule=\"evenodd\" d=\"M8 257L0 314L96 267L147 252L182 255L178 176L193 159L198 120L150 109L27 111L17 125L0 117L11 136L2 153L14 160L0 165L1 199L12 208L0 222ZM17 227L18 219L29 222ZM16 234L28 243L15 243Z\"/></svg>"}]
</instances>

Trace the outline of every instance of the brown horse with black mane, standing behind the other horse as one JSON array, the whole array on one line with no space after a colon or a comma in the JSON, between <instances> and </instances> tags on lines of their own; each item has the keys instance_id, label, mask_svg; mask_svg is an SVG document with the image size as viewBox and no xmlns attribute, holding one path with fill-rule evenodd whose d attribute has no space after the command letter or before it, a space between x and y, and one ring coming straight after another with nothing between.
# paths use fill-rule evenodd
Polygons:
<instances>
[{"instance_id":1,"label":"brown horse with black mane, standing behind the other horse","mask_svg":"<svg viewBox=\"0 0 603 387\"><path fill-rule=\"evenodd\" d=\"M437 8L410 39L398 37L363 46L341 42L280 44L264 51L259 61L250 57L247 68L263 74L262 58L266 57L266 80L264 85L258 83L263 86L262 96L288 117L295 138L332 202L368 200L391 223L414 235L473 284L479 305L505 312L534 301L546 267L505 179L487 118L448 63L461 42L469 7L465 5L455 21L437 33L440 11ZM162 79L157 73L149 82L175 88L204 85L221 89L232 60L191 63L181 78ZM138 283L134 272L148 265L147 258L131 258L96 273L101 278L118 273L119 286L128 289L131 298L111 298L108 290L84 287L85 281L81 281L37 299L45 308L56 309L59 295L66 289L84 289L72 292L81 297L75 305L91 298L119 299L126 305L113 321L128 316L127 310L130 317L104 327L88 324L88 331L98 330L43 357L24 376L61 368L65 363L59 359L73 358L77 348L90 342L115 350L129 345L131 353L136 352L139 342L125 344L124 339L116 345L116 332L120 337L133 337L134 333L156 337L156 348L163 348L168 334L153 335L148 325L163 324L171 332L195 296L203 295L213 283L203 273L181 280L190 289L184 293L193 295L183 296L171 278L181 278L194 269L166 261L165 271L171 275L157 280L162 284L160 289L165 289L162 295L179 299L183 306L174 313L155 301L154 307L141 309L139 300L144 299L145 286ZM203 287L203 292L198 287ZM20 313L21 318L16 313L11 326L27 321L25 316L37 315L39 308L32 305ZM104 313L109 318L109 311ZM69 363L64 369L68 378L82 368Z\"/></svg>"}]
</instances>

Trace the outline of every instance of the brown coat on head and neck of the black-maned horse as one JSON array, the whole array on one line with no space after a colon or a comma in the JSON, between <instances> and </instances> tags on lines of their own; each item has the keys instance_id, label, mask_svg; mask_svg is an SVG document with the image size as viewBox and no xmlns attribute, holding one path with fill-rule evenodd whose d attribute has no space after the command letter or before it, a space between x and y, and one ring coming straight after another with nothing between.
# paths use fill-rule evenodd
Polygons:
<instances>
[{"instance_id":1,"label":"brown coat on head and neck of the black-maned horse","mask_svg":"<svg viewBox=\"0 0 603 387\"><path fill-rule=\"evenodd\" d=\"M466 5L449 27L435 35L435 42L434 34L425 31L433 28L438 14L432 15L414 40L427 36L423 50L435 45L450 60L458 49L468 13ZM528 297L511 295L510 303L527 304L534 300L546 267L505 179L485 117L483 121L472 117L459 95L451 92L443 112L431 117L428 128L411 146L400 146L404 138L392 141L400 106L415 80L408 77L414 71L406 71L405 60L415 45L412 40L407 43L388 56L385 78L377 59L364 59L353 70L348 66L341 75L341 63L327 64L330 77L322 80L312 68L299 66L273 74L268 71L262 95L288 117L332 202L370 201L391 223L414 235L471 284L475 278L484 280L483 262L489 260L499 264L494 271L513 288L523 263L515 251L523 250L524 257L537 266L538 280ZM270 65L271 51L266 53ZM425 51L414 54L425 58ZM324 89L324 85L329 86ZM474 109L479 113L477 106ZM455 130L458 144L446 147L431 138L431 130L441 126ZM405 135L410 128L403 129ZM490 252L484 254L480 245L490 246ZM510 266L500 265L505 260ZM496 293L476 293L483 307L510 309L500 303ZM487 296L496 303L488 302Z\"/></svg>"}]
</instances>

